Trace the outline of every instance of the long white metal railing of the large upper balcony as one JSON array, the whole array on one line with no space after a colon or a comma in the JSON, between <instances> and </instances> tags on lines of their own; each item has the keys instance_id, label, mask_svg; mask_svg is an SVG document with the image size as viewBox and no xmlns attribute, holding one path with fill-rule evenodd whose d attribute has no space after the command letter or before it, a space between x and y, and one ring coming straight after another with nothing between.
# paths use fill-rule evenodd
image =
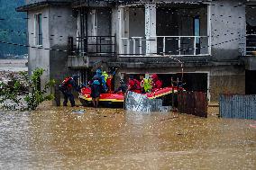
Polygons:
<instances>
[{"instance_id":1,"label":"long white metal railing of the large upper balcony","mask_svg":"<svg viewBox=\"0 0 256 170\"><path fill-rule=\"evenodd\" d=\"M150 40L157 41L155 53L146 53L147 40L144 37L121 38L122 53L125 56L206 56L209 55L208 36L155 36Z\"/></svg>"}]
</instances>

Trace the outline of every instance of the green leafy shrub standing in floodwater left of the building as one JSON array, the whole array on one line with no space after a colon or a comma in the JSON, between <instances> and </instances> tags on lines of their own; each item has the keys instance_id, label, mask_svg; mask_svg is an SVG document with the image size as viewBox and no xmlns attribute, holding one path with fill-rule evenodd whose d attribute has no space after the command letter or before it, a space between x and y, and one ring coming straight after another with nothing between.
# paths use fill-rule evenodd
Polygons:
<instances>
[{"instance_id":1,"label":"green leafy shrub standing in floodwater left of the building","mask_svg":"<svg viewBox=\"0 0 256 170\"><path fill-rule=\"evenodd\" d=\"M23 110L30 111L35 110L38 105L44 101L50 101L54 97L52 94L47 94L51 86L55 85L54 80L50 80L50 82L46 83L41 90L38 86L41 75L43 74L42 68L37 68L33 71L32 76L28 76L26 72L21 72L20 75L25 77L26 83L30 87L30 91L23 98L25 104L22 103L22 97L19 96L21 93L21 82L18 79L13 79L14 85L4 85L1 83L1 91L0 91L0 103L3 104L3 108L6 110ZM12 101L13 104L6 104L5 101Z\"/></svg>"}]
</instances>

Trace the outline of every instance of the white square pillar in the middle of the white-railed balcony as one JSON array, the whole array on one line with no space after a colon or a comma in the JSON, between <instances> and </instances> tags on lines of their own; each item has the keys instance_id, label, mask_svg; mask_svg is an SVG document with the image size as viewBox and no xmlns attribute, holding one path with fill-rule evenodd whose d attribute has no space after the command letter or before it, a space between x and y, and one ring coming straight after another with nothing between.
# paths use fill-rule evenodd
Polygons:
<instances>
[{"instance_id":1,"label":"white square pillar in the middle of the white-railed balcony","mask_svg":"<svg viewBox=\"0 0 256 170\"><path fill-rule=\"evenodd\" d=\"M156 4L145 4L146 54L157 53Z\"/></svg>"}]
</instances>

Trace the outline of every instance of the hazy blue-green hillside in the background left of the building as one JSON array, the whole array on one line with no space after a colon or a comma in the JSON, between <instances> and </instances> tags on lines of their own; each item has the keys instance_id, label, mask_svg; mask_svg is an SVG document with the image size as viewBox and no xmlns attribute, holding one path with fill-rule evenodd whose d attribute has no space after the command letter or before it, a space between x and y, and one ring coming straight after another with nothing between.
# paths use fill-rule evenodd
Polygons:
<instances>
[{"instance_id":1,"label":"hazy blue-green hillside in the background left of the building","mask_svg":"<svg viewBox=\"0 0 256 170\"><path fill-rule=\"evenodd\" d=\"M24 4L24 0L0 0L0 40L19 44L26 44L26 14L18 13L15 8ZM22 31L22 32L19 32ZM26 54L25 47L0 43L0 58L6 54Z\"/></svg>"}]
</instances>

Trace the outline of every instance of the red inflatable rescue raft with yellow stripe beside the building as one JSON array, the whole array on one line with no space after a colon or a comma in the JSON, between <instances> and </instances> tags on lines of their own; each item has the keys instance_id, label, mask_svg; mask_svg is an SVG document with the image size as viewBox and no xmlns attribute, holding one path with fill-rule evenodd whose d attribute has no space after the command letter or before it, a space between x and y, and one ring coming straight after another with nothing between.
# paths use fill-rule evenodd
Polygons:
<instances>
[{"instance_id":1,"label":"red inflatable rescue raft with yellow stripe beside the building","mask_svg":"<svg viewBox=\"0 0 256 170\"><path fill-rule=\"evenodd\" d=\"M185 91L182 87L164 87L154 92L143 94L146 95L149 99L156 99L168 94L176 94L178 91ZM92 97L90 96L91 89L90 87L84 87L81 89L81 93L79 94L79 100L83 104L83 106L88 106L92 103ZM124 101L124 94L117 93L117 94L100 94L99 102L103 103L106 106L114 106L114 105L123 105Z\"/></svg>"}]
</instances>

